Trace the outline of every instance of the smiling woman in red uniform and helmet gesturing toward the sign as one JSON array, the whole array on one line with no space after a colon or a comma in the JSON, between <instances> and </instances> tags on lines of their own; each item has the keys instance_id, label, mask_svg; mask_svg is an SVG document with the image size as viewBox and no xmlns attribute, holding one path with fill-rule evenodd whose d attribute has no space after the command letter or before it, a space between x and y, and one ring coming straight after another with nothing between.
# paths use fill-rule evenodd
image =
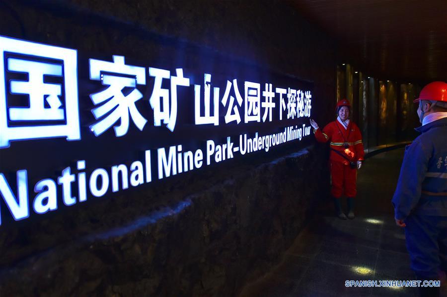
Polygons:
<instances>
[{"instance_id":1,"label":"smiling woman in red uniform and helmet gesturing toward the sign","mask_svg":"<svg viewBox=\"0 0 447 297\"><path fill-rule=\"evenodd\" d=\"M346 219L340 198L344 192L348 198L348 218L354 218L354 197L357 194L357 170L362 167L364 151L362 134L359 127L349 119L351 105L347 99L337 103L337 119L327 124L323 131L318 124L310 119L315 138L319 142L330 141L330 166L332 188L331 195L337 215Z\"/></svg>"}]
</instances>

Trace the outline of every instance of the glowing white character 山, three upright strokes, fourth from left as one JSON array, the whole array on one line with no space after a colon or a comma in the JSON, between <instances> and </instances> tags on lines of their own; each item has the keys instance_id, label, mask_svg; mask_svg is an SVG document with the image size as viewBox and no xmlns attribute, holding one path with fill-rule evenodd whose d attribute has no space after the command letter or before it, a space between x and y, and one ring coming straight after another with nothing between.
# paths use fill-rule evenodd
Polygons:
<instances>
[{"instance_id":1,"label":"glowing white character \u5c71, three upright strokes, fourth from left","mask_svg":"<svg viewBox=\"0 0 447 297\"><path fill-rule=\"evenodd\" d=\"M211 74L205 74L204 78L204 111L205 115L200 115L200 85L194 85L194 114L196 125L214 124L219 125L219 88L213 88L213 106L214 112L211 115Z\"/></svg>"}]
</instances>

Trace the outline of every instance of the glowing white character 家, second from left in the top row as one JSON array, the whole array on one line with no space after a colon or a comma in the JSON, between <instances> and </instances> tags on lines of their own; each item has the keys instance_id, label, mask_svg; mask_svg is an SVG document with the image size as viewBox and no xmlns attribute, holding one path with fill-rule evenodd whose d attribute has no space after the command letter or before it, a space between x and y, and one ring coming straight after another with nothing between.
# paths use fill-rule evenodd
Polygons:
<instances>
[{"instance_id":1,"label":"glowing white character \u5bb6, second from left in the top row","mask_svg":"<svg viewBox=\"0 0 447 297\"><path fill-rule=\"evenodd\" d=\"M114 126L115 135L117 137L126 135L129 130L129 113L137 128L143 130L147 120L140 114L135 102L143 97L137 89L137 84L146 85L145 68L125 65L124 56L113 56L113 62L90 59L89 63L90 79L100 80L102 85L109 86L104 91L90 95L95 105L103 103L91 110L95 118L99 119L99 122L90 126L95 136L104 133L117 121L120 121L120 124ZM132 78L119 75L128 75ZM124 88L133 90L125 96L122 92Z\"/></svg>"}]
</instances>

